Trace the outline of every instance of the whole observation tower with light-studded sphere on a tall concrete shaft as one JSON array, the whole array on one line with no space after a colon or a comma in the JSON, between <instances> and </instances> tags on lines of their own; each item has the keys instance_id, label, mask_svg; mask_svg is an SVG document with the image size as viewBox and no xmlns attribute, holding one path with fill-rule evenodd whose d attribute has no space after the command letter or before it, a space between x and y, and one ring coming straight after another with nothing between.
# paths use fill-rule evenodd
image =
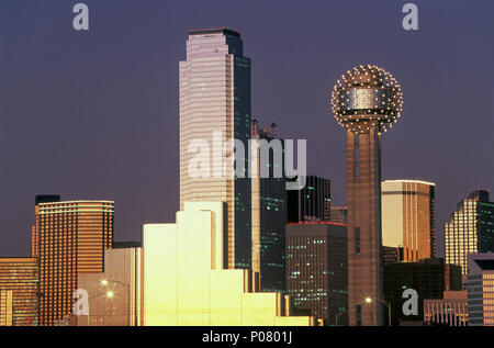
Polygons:
<instances>
[{"instance_id":1,"label":"whole observation tower with light-studded sphere on a tall concrete shaft","mask_svg":"<svg viewBox=\"0 0 494 348\"><path fill-rule=\"evenodd\" d=\"M366 65L337 81L332 106L347 131L349 325L383 325L381 134L400 117L403 94L386 70Z\"/></svg>"}]
</instances>

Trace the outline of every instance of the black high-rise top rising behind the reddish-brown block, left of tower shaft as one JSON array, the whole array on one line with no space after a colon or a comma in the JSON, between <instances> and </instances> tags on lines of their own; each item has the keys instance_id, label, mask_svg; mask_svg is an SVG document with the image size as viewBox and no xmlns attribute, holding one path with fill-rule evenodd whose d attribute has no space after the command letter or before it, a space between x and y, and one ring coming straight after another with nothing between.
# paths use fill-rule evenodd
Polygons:
<instances>
[{"instance_id":1,"label":"black high-rise top rising behind the reddish-brown block, left of tower shaft","mask_svg":"<svg viewBox=\"0 0 494 348\"><path fill-rule=\"evenodd\" d=\"M329 221L332 213L330 181L307 176L301 190L289 190L288 222Z\"/></svg>"}]
</instances>

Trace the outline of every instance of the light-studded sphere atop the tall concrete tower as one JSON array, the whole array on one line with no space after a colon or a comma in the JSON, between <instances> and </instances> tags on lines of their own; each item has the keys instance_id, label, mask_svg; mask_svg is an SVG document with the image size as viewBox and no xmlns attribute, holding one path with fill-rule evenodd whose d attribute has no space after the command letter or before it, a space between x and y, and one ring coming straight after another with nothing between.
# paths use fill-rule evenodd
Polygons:
<instances>
[{"instance_id":1,"label":"light-studded sphere atop the tall concrete tower","mask_svg":"<svg viewBox=\"0 0 494 348\"><path fill-rule=\"evenodd\" d=\"M355 67L336 82L332 109L336 121L360 134L391 127L400 117L403 93L396 79L375 65Z\"/></svg>"}]
</instances>

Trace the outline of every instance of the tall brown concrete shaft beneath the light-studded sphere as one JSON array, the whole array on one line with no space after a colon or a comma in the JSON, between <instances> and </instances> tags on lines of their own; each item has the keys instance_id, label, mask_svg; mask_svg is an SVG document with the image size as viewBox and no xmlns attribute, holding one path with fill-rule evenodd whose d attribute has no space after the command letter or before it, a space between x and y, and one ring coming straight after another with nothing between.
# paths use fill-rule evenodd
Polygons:
<instances>
[{"instance_id":1,"label":"tall brown concrete shaft beneath the light-studded sphere","mask_svg":"<svg viewBox=\"0 0 494 348\"><path fill-rule=\"evenodd\" d=\"M382 325L381 135L347 131L348 305L351 326ZM366 298L372 302L367 304Z\"/></svg>"}]
</instances>

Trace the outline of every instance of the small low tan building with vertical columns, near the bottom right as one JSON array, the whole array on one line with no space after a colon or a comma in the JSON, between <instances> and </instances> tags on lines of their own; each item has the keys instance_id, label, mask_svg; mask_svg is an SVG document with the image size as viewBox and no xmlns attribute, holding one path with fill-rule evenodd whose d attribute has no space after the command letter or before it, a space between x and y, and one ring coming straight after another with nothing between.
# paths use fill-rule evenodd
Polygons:
<instances>
[{"instance_id":1,"label":"small low tan building with vertical columns, near the bottom right","mask_svg":"<svg viewBox=\"0 0 494 348\"><path fill-rule=\"evenodd\" d=\"M467 326L469 323L467 290L445 291L442 299L424 300L424 323Z\"/></svg>"}]
</instances>

